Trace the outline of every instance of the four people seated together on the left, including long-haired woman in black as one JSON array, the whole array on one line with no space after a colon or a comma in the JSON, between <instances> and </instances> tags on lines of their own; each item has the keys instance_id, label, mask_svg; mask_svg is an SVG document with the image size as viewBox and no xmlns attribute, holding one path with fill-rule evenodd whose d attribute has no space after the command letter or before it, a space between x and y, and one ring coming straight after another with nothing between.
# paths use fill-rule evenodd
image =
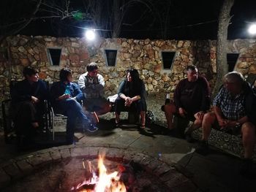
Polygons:
<instances>
[{"instance_id":1,"label":"four people seated together on the left, including long-haired woman in black","mask_svg":"<svg viewBox=\"0 0 256 192\"><path fill-rule=\"evenodd\" d=\"M34 142L37 127L42 125L43 112L46 111L45 100L50 101L53 109L67 115L67 144L74 142L77 118L82 120L87 131L98 130L98 115L110 112L112 105L105 99L105 81L102 75L98 74L97 64L88 64L86 70L86 73L80 75L77 84L72 82L70 69L61 69L59 82L53 82L49 91L46 82L39 80L38 72L34 68L27 66L23 69L24 80L17 82L11 91L15 129L18 135L23 136L23 142ZM128 69L114 104L116 126L120 123L120 112L124 108L134 108L140 113L140 128L145 128L145 92L145 85L140 80L138 71Z\"/></svg>"}]
</instances>

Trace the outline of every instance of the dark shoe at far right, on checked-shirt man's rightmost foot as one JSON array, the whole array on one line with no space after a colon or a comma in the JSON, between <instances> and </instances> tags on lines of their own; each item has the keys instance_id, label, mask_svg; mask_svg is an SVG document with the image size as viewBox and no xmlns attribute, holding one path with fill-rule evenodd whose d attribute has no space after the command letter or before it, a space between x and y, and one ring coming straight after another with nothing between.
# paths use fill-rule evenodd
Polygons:
<instances>
[{"instance_id":1,"label":"dark shoe at far right, on checked-shirt man's rightmost foot","mask_svg":"<svg viewBox=\"0 0 256 192\"><path fill-rule=\"evenodd\" d=\"M255 179L256 177L256 170L254 167L254 164L252 162L252 159L250 158L244 158L242 161L240 174L248 179Z\"/></svg>"}]
</instances>

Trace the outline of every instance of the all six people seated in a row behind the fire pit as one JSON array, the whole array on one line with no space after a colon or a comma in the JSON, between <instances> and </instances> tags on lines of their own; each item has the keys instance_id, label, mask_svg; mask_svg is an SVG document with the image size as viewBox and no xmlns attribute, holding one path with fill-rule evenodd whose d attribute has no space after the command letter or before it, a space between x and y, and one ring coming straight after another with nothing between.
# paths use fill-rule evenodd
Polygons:
<instances>
[{"instance_id":1,"label":"all six people seated in a row behind the fire pit","mask_svg":"<svg viewBox=\"0 0 256 192\"><path fill-rule=\"evenodd\" d=\"M91 132L97 131L98 115L110 112L111 104L104 96L105 81L98 73L96 63L86 66L87 72L81 74L78 84L72 82L72 71L61 69L59 82L54 82L48 93L47 85L39 80L38 72L25 67L25 80L12 88L12 103L15 106L15 125L18 134L24 134L30 141L45 111L42 103L50 99L53 107L67 115L67 143L73 142L75 120L82 119L83 126ZM118 88L115 101L116 126L120 123L120 112L124 108L135 108L140 114L140 128L145 128L146 99L145 85L138 70L127 70L127 76ZM198 75L196 66L187 66L187 78L178 82L173 102L165 104L164 111L167 128L173 131L173 115L190 120L185 136L192 142L192 131L203 128L203 137L197 152L208 153L208 137L211 128L241 134L244 145L244 171L252 164L255 146L256 96L252 86L239 72L229 72L223 77L223 85L211 106L211 90L205 77ZM81 104L83 103L83 105Z\"/></svg>"}]
</instances>

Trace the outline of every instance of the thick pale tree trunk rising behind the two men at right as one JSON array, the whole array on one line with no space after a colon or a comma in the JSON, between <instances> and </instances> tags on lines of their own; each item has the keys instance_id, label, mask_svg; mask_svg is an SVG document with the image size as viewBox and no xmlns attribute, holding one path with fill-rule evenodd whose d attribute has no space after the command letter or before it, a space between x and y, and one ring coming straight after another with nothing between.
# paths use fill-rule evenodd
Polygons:
<instances>
[{"instance_id":1,"label":"thick pale tree trunk rising behind the two men at right","mask_svg":"<svg viewBox=\"0 0 256 192\"><path fill-rule=\"evenodd\" d=\"M230 10L235 0L225 0L219 12L219 28L217 34L217 78L214 86L213 96L219 92L222 85L222 77L227 74L227 28L230 23Z\"/></svg>"}]
</instances>

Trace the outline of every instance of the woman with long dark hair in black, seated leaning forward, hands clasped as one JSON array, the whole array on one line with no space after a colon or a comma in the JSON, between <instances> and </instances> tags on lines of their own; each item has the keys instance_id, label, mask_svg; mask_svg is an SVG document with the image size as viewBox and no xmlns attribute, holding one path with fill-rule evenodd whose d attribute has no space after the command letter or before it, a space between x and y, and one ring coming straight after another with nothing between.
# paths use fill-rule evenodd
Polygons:
<instances>
[{"instance_id":1,"label":"woman with long dark hair in black, seated leaning forward, hands clasped","mask_svg":"<svg viewBox=\"0 0 256 192\"><path fill-rule=\"evenodd\" d=\"M123 80L118 88L118 98L115 101L116 106L116 126L119 126L120 112L127 107L135 107L140 112L140 128L145 128L146 118L146 100L145 85L140 80L139 73L136 69L127 70L127 78Z\"/></svg>"}]
</instances>

